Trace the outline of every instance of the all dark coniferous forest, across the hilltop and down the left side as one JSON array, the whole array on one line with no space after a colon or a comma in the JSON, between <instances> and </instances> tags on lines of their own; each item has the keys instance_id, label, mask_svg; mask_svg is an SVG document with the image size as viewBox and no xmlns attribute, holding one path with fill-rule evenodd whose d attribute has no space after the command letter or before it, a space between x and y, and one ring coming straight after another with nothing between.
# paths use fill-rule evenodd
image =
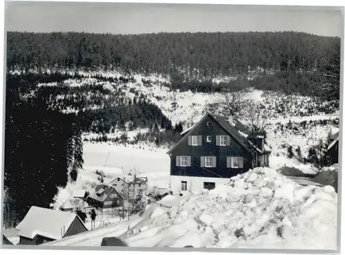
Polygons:
<instances>
[{"instance_id":1,"label":"all dark coniferous forest, across the hilltop and down the left side","mask_svg":"<svg viewBox=\"0 0 345 255\"><path fill-rule=\"evenodd\" d=\"M109 133L114 126L121 129L131 122L132 129L151 129L157 141L176 139L181 124L172 126L144 95L128 100L116 88L130 82L133 73L170 77L166 86L172 90L213 92L251 86L339 100L339 90L329 93L324 87L333 84L339 89L338 37L304 32L8 32L6 50L5 187L6 206L14 221L21 220L33 204L48 207L57 187L77 178L83 164L81 133ZM106 88L92 84L64 86L63 80L83 78L63 74L67 70L121 70L127 76L97 77L111 79L116 92L110 95ZM214 77L236 79L214 84ZM46 82L57 86L37 87ZM84 97L86 89L94 95ZM31 91L35 97L28 97ZM101 102L103 98L107 99ZM90 109L90 104L104 107ZM62 113L66 106L81 111Z\"/></svg>"}]
</instances>

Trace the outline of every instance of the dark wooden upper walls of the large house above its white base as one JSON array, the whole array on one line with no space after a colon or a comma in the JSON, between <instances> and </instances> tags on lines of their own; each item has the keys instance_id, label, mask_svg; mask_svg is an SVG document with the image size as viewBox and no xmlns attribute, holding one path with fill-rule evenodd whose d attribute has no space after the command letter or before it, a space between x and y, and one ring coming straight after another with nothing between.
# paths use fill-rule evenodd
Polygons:
<instances>
[{"instance_id":1,"label":"dark wooden upper walls of the large house above its white base","mask_svg":"<svg viewBox=\"0 0 345 255\"><path fill-rule=\"evenodd\" d=\"M223 123L219 123L218 120ZM197 146L193 146L193 136L198 136ZM220 146L220 136L223 136L222 142L225 140L224 146ZM255 158L263 156L265 160L261 162L261 166L268 167L269 153L252 150L243 136L238 130L226 124L224 117L205 115L193 129L181 138L175 147L168 151L170 175L231 178L252 168L253 155ZM258 149L262 150L263 145L260 144L264 144L263 138L256 139L255 144L258 144ZM187 157L187 160L184 158L184 161L187 162L184 162L186 166L181 166L181 156ZM204 157L212 157L212 167L206 167ZM234 160L233 157L238 157L235 160L240 161L236 167L231 162Z\"/></svg>"}]
</instances>

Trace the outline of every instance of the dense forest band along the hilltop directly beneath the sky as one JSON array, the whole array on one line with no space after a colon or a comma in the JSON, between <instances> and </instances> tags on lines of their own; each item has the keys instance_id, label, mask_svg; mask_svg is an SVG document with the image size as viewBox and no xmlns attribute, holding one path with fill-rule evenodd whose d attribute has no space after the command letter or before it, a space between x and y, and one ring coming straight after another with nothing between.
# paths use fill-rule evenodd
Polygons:
<instances>
[{"instance_id":1,"label":"dense forest band along the hilltop directly beneath the sky","mask_svg":"<svg viewBox=\"0 0 345 255\"><path fill-rule=\"evenodd\" d=\"M339 73L334 66L340 39L303 32L8 32L7 41L8 70L158 73L170 77L172 88L204 92L217 89L208 79L241 77L250 83L230 81L221 87L319 94L324 73Z\"/></svg>"}]
</instances>

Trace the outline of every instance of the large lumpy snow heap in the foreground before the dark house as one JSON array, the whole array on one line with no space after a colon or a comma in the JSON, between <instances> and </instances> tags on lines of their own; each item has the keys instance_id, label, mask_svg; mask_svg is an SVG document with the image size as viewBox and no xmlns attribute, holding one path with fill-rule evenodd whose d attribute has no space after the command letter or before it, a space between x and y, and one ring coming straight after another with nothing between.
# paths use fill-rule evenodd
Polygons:
<instances>
[{"instance_id":1,"label":"large lumpy snow heap in the foreground before the dark house","mask_svg":"<svg viewBox=\"0 0 345 255\"><path fill-rule=\"evenodd\" d=\"M333 187L302 187L268 168L190 194L125 239L131 247L257 249L336 249L336 240Z\"/></svg>"}]
</instances>

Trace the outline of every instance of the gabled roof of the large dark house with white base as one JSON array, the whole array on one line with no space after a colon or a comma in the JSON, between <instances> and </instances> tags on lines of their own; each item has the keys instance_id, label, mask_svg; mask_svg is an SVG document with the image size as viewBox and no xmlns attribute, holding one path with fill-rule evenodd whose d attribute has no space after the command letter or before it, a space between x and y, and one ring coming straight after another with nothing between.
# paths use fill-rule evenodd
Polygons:
<instances>
[{"instance_id":1,"label":"gabled roof of the large dark house with white base","mask_svg":"<svg viewBox=\"0 0 345 255\"><path fill-rule=\"evenodd\" d=\"M195 127L202 122L203 120L205 120L206 117L210 117L211 119L213 119L217 124L219 124L219 126L221 126L222 129L224 129L224 131L226 131L226 133L228 133L228 135L232 136L234 140L236 140L240 145L242 145L242 147L244 147L244 149L246 149L247 151L251 151L250 147L254 147L259 153L263 153L263 151L257 149L253 144L251 144L247 137L248 137L248 133L250 133L248 131L248 129L246 128L246 126L244 124L242 124L242 122L240 122L238 119L234 118L233 119L233 123L234 125L230 124L228 122L228 118L221 116L221 115L213 115L210 113L207 113L206 115L204 115L204 117L201 118L201 120L199 120L199 122L197 124L195 124L195 126L193 126L192 129L190 129L186 135L184 135L183 138L181 138L181 140L179 140L179 142L177 142L177 144L175 144L174 147L172 147L167 153L170 153L172 150L174 150L182 141L184 141L185 139L187 139L186 137L188 137L189 133L192 133L192 131L195 129Z\"/></svg>"}]
</instances>

